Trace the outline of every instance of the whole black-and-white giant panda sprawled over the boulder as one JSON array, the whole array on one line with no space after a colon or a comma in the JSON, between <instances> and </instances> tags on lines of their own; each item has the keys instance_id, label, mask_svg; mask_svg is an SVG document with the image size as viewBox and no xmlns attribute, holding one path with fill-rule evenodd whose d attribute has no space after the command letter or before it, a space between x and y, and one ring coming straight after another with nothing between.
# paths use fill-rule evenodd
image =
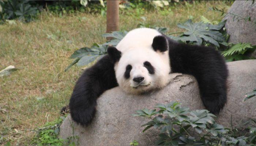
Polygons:
<instances>
[{"instance_id":1,"label":"whole black-and-white giant panda sprawled over the boulder","mask_svg":"<svg viewBox=\"0 0 256 146\"><path fill-rule=\"evenodd\" d=\"M178 43L157 30L137 28L116 47L109 46L107 53L84 71L74 87L69 109L79 124L91 123L97 98L106 90L119 86L128 94L150 92L165 87L170 73L193 75L211 113L218 114L226 103L228 70L213 47Z\"/></svg>"}]
</instances>

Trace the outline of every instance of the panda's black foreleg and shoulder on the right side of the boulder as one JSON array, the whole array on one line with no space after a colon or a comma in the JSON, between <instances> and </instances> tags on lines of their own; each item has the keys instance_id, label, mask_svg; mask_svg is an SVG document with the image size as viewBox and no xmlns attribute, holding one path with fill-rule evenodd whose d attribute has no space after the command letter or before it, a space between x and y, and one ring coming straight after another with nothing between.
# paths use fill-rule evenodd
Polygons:
<instances>
[{"instance_id":1,"label":"panda's black foreleg and shoulder on the right side of the boulder","mask_svg":"<svg viewBox=\"0 0 256 146\"><path fill-rule=\"evenodd\" d=\"M213 114L218 114L227 101L228 70L224 58L213 47L167 39L172 72L193 75L204 106Z\"/></svg>"}]
</instances>

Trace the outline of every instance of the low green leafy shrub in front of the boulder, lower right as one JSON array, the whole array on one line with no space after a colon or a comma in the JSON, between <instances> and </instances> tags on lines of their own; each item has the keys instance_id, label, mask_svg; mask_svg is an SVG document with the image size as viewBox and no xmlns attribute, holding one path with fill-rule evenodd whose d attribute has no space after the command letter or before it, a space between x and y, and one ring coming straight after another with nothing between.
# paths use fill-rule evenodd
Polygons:
<instances>
[{"instance_id":1,"label":"low green leafy shrub in front of the boulder, lower right","mask_svg":"<svg viewBox=\"0 0 256 146\"><path fill-rule=\"evenodd\" d=\"M157 104L156 109L136 110L133 116L150 119L143 124L143 132L151 127L159 129L155 145L255 145L256 125L249 127L246 136L237 136L237 129L224 128L215 123L215 115L207 110L190 111L172 101L166 105ZM253 120L254 124L256 121ZM192 136L193 135L193 136Z\"/></svg>"}]
</instances>

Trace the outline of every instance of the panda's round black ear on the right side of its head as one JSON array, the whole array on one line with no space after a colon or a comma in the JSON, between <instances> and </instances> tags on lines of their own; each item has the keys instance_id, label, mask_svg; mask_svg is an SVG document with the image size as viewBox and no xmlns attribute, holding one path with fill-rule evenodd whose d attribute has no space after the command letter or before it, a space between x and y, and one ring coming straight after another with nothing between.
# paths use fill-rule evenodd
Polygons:
<instances>
[{"instance_id":1,"label":"panda's round black ear on the right side of its head","mask_svg":"<svg viewBox=\"0 0 256 146\"><path fill-rule=\"evenodd\" d=\"M154 37L152 47L155 51L165 52L168 50L168 42L163 35Z\"/></svg>"}]
</instances>

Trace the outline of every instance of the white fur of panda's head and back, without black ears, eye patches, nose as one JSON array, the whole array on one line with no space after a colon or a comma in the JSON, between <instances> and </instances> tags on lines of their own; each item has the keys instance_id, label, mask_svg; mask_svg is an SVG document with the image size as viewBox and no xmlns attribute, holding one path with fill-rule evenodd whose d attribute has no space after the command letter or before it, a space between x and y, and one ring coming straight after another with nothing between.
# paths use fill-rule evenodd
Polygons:
<instances>
[{"instance_id":1,"label":"white fur of panda's head and back, without black ears, eye patches, nose","mask_svg":"<svg viewBox=\"0 0 256 146\"><path fill-rule=\"evenodd\" d=\"M138 28L128 34L118 43L117 49L122 52L119 62L115 64L116 78L119 86L127 93L139 94L155 88L162 88L169 82L169 55L168 51L159 52L152 48L155 36L161 35L157 30ZM145 61L150 62L155 73L149 74L144 67ZM124 78L127 65L132 66L130 78ZM134 77L144 77L138 84Z\"/></svg>"}]
</instances>

